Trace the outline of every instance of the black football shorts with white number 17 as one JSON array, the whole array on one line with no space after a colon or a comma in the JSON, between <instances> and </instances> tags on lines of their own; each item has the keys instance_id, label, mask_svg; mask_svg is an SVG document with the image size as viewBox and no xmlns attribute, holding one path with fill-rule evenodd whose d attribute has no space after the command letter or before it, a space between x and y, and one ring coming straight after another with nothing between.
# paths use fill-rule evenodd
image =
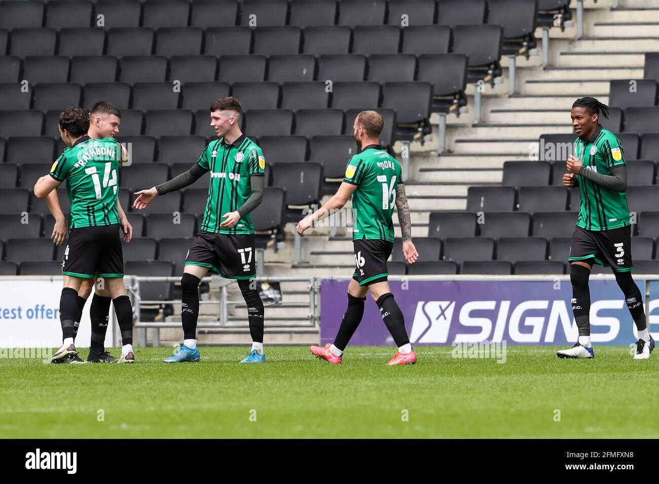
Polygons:
<instances>
[{"instance_id":1,"label":"black football shorts with white number 17","mask_svg":"<svg viewBox=\"0 0 659 484\"><path fill-rule=\"evenodd\" d=\"M200 265L227 279L256 276L254 234L219 234L200 230L185 265Z\"/></svg>"}]
</instances>

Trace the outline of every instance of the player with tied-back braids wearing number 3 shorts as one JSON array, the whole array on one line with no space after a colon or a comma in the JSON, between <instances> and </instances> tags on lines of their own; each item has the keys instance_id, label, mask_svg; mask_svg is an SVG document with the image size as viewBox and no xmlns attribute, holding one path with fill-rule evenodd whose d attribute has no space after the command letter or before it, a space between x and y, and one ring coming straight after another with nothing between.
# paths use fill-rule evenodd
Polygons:
<instances>
[{"instance_id":1,"label":"player with tied-back braids wearing number 3 shorts","mask_svg":"<svg viewBox=\"0 0 659 484\"><path fill-rule=\"evenodd\" d=\"M646 325L641 290L631 277L631 220L627 207L625 154L616 135L602 128L600 114L608 118L608 106L594 97L581 97L572 105L572 126L577 140L567 159L563 186L579 186L581 207L570 248L572 311L579 341L559 358L593 358L590 343L590 290L588 279L594 263L611 267L639 333L635 360L650 358L654 340Z\"/></svg>"}]
</instances>

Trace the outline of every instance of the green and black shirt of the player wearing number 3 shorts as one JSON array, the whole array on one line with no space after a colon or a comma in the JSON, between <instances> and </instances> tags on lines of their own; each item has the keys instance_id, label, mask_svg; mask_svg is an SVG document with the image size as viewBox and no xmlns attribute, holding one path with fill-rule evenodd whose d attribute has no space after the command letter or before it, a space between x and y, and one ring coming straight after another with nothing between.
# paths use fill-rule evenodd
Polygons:
<instances>
[{"instance_id":1,"label":"green and black shirt of the player wearing number 3 shorts","mask_svg":"<svg viewBox=\"0 0 659 484\"><path fill-rule=\"evenodd\" d=\"M610 169L625 166L625 153L616 135L598 126L588 140L577 138L575 157L583 165L601 175L611 175ZM611 230L630 225L627 194L598 185L579 176L581 207L577 227L586 230Z\"/></svg>"}]
</instances>

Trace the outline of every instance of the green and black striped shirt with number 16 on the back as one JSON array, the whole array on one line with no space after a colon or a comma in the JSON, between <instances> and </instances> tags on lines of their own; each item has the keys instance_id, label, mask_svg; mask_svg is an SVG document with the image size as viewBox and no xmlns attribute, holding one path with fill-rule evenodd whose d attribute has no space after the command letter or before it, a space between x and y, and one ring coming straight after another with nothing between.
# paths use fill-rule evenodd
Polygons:
<instances>
[{"instance_id":1,"label":"green and black striped shirt with number 16 on the back","mask_svg":"<svg viewBox=\"0 0 659 484\"><path fill-rule=\"evenodd\" d=\"M357 185L353 192L353 240L381 239L393 242L391 215L401 165L379 145L368 145L351 157L343 181Z\"/></svg>"}]
</instances>

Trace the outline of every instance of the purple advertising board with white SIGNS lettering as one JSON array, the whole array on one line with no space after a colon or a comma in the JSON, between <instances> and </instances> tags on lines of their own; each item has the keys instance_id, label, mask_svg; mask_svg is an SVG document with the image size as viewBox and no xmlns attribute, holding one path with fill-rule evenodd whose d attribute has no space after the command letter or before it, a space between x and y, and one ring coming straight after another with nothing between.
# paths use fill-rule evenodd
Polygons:
<instances>
[{"instance_id":1,"label":"purple advertising board with white SIGNS lettering","mask_svg":"<svg viewBox=\"0 0 659 484\"><path fill-rule=\"evenodd\" d=\"M645 294L645 281L635 281L641 294ZM564 346L577 342L569 281L408 280L389 284L405 316L412 344L505 340L506 344ZM333 342L341 324L347 306L348 281L323 279L320 288L320 340L326 344ZM659 293L659 285L656 290ZM659 294L656 296L659 298ZM633 320L616 281L590 281L590 298L592 342L627 346L637 340ZM659 304L657 309L659 313ZM370 297L350 344L393 344Z\"/></svg>"}]
</instances>

